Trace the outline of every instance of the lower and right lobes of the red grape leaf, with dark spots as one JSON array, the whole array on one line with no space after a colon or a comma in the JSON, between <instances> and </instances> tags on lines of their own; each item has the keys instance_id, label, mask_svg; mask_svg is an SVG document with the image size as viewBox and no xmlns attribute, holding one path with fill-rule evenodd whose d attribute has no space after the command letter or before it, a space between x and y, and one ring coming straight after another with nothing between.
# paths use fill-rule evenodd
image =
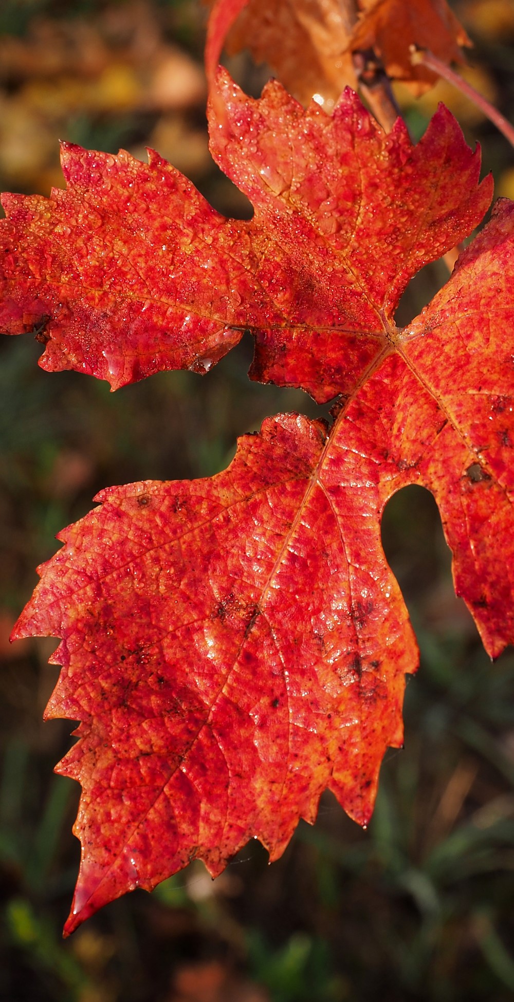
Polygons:
<instances>
[{"instance_id":1,"label":"lower and right lobes of the red grape leaf, with dark spots","mask_svg":"<svg viewBox=\"0 0 514 1002\"><path fill-rule=\"evenodd\" d=\"M276 859L331 789L370 818L417 666L380 520L432 490L485 646L514 638L514 204L351 395L332 428L268 419L228 469L110 488L14 636L61 638L47 716L81 722L80 876L66 931L251 836Z\"/></svg>"}]
</instances>

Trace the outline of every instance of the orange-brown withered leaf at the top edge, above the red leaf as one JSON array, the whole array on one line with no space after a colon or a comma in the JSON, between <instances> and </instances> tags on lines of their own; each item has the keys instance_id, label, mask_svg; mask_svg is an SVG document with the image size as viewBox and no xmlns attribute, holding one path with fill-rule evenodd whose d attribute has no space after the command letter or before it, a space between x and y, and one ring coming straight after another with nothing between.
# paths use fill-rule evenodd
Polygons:
<instances>
[{"instance_id":1,"label":"orange-brown withered leaf at the top edge, above the red leaf","mask_svg":"<svg viewBox=\"0 0 514 1002\"><path fill-rule=\"evenodd\" d=\"M247 48L268 62L303 104L316 94L331 108L346 86L357 88L353 54L374 50L394 80L421 94L437 82L413 66L410 46L430 49L443 62L463 62L471 42L446 0L207 0L211 15L207 72L228 53ZM232 23L234 22L234 23Z\"/></svg>"}]
</instances>

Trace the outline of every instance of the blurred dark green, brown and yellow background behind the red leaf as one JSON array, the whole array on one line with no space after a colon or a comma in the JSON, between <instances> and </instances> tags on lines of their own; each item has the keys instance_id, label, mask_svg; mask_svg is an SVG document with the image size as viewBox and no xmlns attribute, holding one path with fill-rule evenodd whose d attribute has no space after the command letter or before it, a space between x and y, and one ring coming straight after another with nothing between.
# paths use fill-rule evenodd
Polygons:
<instances>
[{"instance_id":1,"label":"blurred dark green, brown and yellow background behind the red leaf","mask_svg":"<svg viewBox=\"0 0 514 1002\"><path fill-rule=\"evenodd\" d=\"M514 110L514 4L458 5L476 46L466 70ZM204 16L191 0L4 0L0 10L0 182L62 183L57 139L142 155L153 145L220 210L244 199L212 165L204 126ZM232 61L248 86L266 71ZM438 99L484 148L514 196L512 149L446 85L399 92L415 136ZM446 280L413 283L403 319ZM382 769L362 832L331 796L267 866L252 842L212 882L201 864L114 902L62 942L78 866L78 787L52 768L70 724L42 723L54 641L10 647L16 615L54 535L101 487L205 476L237 435L278 411L322 413L305 394L249 384L243 340L208 376L167 373L110 394L37 367L32 338L0 345L0 999L17 1002L478 1002L514 999L514 656L484 654L452 590L432 496L390 502L383 526L421 646L406 743Z\"/></svg>"}]
</instances>

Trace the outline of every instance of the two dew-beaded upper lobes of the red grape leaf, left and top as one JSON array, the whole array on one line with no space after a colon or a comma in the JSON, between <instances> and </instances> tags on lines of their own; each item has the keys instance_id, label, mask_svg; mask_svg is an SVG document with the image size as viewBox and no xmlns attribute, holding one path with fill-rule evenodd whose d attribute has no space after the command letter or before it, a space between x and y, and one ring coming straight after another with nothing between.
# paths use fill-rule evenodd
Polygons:
<instances>
[{"instance_id":1,"label":"two dew-beaded upper lobes of the red grape leaf, left and top","mask_svg":"<svg viewBox=\"0 0 514 1002\"><path fill-rule=\"evenodd\" d=\"M64 145L66 191L4 196L0 327L36 326L43 368L113 389L205 372L249 328L252 378L350 393L412 276L482 217L491 179L478 184L479 153L443 107L413 145L352 91L331 117L275 82L248 98L223 71L213 94L212 153L253 218L219 215L156 153Z\"/></svg>"}]
</instances>

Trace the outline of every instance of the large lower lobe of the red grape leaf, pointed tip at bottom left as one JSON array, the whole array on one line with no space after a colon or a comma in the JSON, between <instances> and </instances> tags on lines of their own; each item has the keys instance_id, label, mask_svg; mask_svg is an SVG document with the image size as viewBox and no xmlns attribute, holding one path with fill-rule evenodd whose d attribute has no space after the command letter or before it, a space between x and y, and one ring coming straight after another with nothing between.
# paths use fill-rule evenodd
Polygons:
<instances>
[{"instance_id":1,"label":"large lower lobe of the red grape leaf, pointed tip at bottom left","mask_svg":"<svg viewBox=\"0 0 514 1002\"><path fill-rule=\"evenodd\" d=\"M67 931L195 857L218 874L253 835L277 859L326 786L368 821L416 644L327 444L270 419L216 477L104 491L40 568L15 635L62 637L46 716L83 721L59 767L83 787Z\"/></svg>"}]
</instances>

